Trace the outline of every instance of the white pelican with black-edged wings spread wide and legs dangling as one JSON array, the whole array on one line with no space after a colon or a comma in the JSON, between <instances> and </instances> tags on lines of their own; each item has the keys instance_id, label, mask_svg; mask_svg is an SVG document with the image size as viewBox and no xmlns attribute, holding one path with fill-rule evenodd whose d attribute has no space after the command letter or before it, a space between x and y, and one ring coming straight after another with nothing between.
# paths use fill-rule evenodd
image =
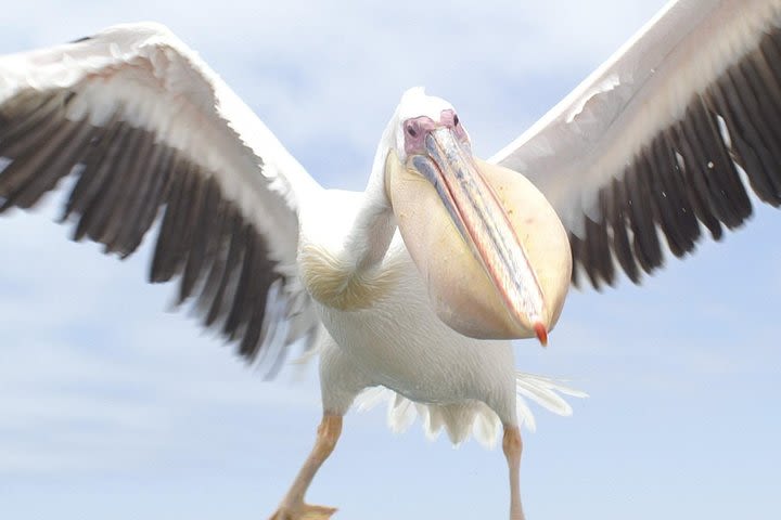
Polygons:
<instances>
[{"instance_id":1,"label":"white pelican with black-edged wings spread wide and legs dangling","mask_svg":"<svg viewBox=\"0 0 781 520\"><path fill-rule=\"evenodd\" d=\"M159 222L151 282L274 374L319 354L323 417L274 519L329 518L306 491L367 389L458 443L503 430L524 518L510 339L546 344L571 280L635 283L781 204L781 1L681 0L487 161L456 107L404 93L362 193L320 187L165 27L110 27L0 58L0 210L74 176L74 237L127 257ZM745 179L745 180L744 180ZM746 185L747 183L747 185Z\"/></svg>"}]
</instances>

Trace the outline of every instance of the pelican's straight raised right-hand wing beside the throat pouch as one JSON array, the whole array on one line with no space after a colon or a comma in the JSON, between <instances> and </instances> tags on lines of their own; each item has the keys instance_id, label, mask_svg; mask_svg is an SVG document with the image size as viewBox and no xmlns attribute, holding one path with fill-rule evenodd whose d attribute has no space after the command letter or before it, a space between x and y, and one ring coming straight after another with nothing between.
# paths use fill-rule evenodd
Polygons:
<instances>
[{"instance_id":1,"label":"pelican's straight raised right-hand wing beside the throat pouch","mask_svg":"<svg viewBox=\"0 0 781 520\"><path fill-rule=\"evenodd\" d=\"M491 159L556 209L575 283L612 285L616 263L638 283L719 239L752 213L744 181L781 204L780 25L780 0L670 2Z\"/></svg>"}]
</instances>

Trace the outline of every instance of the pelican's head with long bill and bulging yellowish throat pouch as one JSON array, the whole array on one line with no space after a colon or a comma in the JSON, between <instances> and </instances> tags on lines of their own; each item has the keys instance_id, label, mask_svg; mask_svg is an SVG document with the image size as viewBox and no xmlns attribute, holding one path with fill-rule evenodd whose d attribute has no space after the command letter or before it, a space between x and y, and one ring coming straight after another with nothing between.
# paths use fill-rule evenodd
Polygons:
<instances>
[{"instance_id":1,"label":"pelican's head with long bill and bulging yellowish throat pouch","mask_svg":"<svg viewBox=\"0 0 781 520\"><path fill-rule=\"evenodd\" d=\"M572 272L548 200L474 157L452 105L423 89L405 93L389 130L385 192L439 318L470 337L546 344Z\"/></svg>"}]
</instances>

